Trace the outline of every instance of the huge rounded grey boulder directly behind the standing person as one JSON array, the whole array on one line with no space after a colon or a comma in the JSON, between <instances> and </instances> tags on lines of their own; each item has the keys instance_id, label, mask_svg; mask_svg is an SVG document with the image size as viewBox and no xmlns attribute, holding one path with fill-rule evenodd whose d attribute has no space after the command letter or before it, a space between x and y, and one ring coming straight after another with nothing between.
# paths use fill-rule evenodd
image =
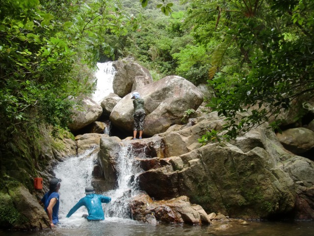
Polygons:
<instances>
[{"instance_id":1,"label":"huge rounded grey boulder directly behind the standing person","mask_svg":"<svg viewBox=\"0 0 314 236\"><path fill-rule=\"evenodd\" d=\"M179 76L167 76L138 89L137 92L145 101L146 136L165 132L171 125L180 124L185 111L196 110L203 102L202 92ZM120 129L132 131L131 96L125 96L118 102L110 114L110 121Z\"/></svg>"}]
</instances>

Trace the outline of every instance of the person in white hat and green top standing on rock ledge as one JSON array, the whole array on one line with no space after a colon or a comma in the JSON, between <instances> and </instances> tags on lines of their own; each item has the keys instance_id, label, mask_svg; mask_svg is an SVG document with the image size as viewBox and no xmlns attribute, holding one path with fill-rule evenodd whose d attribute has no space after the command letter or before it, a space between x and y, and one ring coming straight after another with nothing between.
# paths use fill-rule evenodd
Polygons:
<instances>
[{"instance_id":1,"label":"person in white hat and green top standing on rock ledge","mask_svg":"<svg viewBox=\"0 0 314 236\"><path fill-rule=\"evenodd\" d=\"M144 129L144 119L145 119L145 110L144 110L144 100L140 97L138 92L133 92L131 95L133 100L134 107L134 128L133 128L133 139L136 139L137 131L139 131L139 138L142 138L143 129Z\"/></svg>"}]
</instances>

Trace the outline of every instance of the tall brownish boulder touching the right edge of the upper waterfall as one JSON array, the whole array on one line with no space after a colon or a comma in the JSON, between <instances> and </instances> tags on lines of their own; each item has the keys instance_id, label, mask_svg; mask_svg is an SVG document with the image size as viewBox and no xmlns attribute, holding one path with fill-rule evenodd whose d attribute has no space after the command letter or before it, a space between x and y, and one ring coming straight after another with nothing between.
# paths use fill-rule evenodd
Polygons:
<instances>
[{"instance_id":1,"label":"tall brownish boulder touching the right edge of the upper waterfall","mask_svg":"<svg viewBox=\"0 0 314 236\"><path fill-rule=\"evenodd\" d=\"M113 78L113 91L120 97L124 97L132 91L136 76L142 76L141 81L144 84L153 82L150 72L138 63L129 62L121 67Z\"/></svg>"}]
</instances>

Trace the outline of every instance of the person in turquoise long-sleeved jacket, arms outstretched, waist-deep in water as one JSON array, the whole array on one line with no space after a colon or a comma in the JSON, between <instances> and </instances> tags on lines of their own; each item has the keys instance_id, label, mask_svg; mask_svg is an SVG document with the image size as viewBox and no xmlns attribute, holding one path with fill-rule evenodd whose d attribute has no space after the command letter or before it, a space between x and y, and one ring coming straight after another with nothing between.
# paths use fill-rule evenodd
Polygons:
<instances>
[{"instance_id":1,"label":"person in turquoise long-sleeved jacket, arms outstretched, waist-deep in water","mask_svg":"<svg viewBox=\"0 0 314 236\"><path fill-rule=\"evenodd\" d=\"M85 194L86 196L81 198L78 203L72 207L72 209L67 214L67 218L76 212L79 207L85 206L88 211L88 216L85 217L87 220L104 220L105 215L102 203L109 203L111 198L104 195L95 194L95 190L92 186L85 188Z\"/></svg>"}]
</instances>

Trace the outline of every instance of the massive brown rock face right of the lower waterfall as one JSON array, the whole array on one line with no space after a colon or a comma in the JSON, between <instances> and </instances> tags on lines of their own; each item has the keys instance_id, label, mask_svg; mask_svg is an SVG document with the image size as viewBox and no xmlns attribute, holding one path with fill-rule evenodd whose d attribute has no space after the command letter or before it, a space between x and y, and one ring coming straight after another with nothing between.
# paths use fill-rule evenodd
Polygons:
<instances>
[{"instance_id":1,"label":"massive brown rock face right of the lower waterfall","mask_svg":"<svg viewBox=\"0 0 314 236\"><path fill-rule=\"evenodd\" d=\"M230 143L201 147L197 138L208 129L221 129L224 122L213 112L152 138L128 141L135 150L140 145L157 150L157 143L164 149L159 156L158 151L143 151L136 158L143 167L139 188L154 200L187 196L207 212L232 217L297 212L302 219L313 218L314 162L287 151L265 125Z\"/></svg>"}]
</instances>

